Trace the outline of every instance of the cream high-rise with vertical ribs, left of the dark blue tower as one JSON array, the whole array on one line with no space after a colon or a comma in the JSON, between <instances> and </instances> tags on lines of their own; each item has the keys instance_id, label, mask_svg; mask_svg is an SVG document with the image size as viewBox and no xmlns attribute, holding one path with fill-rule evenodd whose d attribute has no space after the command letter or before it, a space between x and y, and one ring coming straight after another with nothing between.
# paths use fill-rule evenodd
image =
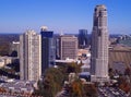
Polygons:
<instances>
[{"instance_id":1,"label":"cream high-rise with vertical ribs, left of the dark blue tower","mask_svg":"<svg viewBox=\"0 0 131 97\"><path fill-rule=\"evenodd\" d=\"M41 75L40 35L27 31L20 36L20 78L38 81Z\"/></svg>"}]
</instances>

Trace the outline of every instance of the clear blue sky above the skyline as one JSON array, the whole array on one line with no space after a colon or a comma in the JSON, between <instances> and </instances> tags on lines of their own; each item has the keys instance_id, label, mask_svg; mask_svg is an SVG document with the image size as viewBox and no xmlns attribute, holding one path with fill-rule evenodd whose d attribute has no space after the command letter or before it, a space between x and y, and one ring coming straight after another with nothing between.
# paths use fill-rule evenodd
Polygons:
<instances>
[{"instance_id":1,"label":"clear blue sky above the skyline","mask_svg":"<svg viewBox=\"0 0 131 97\"><path fill-rule=\"evenodd\" d=\"M110 34L131 34L131 0L0 0L0 33L39 33L43 25L55 33L91 33L97 4L107 7Z\"/></svg>"}]
</instances>

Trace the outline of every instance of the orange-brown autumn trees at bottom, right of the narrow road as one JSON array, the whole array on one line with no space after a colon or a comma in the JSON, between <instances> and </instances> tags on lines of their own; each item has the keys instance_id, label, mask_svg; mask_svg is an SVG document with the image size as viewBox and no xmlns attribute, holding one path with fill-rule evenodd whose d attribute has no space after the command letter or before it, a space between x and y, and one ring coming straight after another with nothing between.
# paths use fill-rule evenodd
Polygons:
<instances>
[{"instance_id":1,"label":"orange-brown autumn trees at bottom, right of the narrow road","mask_svg":"<svg viewBox=\"0 0 131 97\"><path fill-rule=\"evenodd\" d=\"M97 97L97 89L94 84L83 84L81 80L75 80L70 85L70 97Z\"/></svg>"}]
</instances>

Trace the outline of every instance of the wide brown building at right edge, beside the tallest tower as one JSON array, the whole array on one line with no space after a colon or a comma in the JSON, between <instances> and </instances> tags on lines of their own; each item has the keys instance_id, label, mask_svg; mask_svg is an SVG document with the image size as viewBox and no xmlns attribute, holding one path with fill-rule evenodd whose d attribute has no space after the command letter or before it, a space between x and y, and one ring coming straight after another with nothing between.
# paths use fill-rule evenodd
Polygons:
<instances>
[{"instance_id":1,"label":"wide brown building at right edge, beside the tallest tower","mask_svg":"<svg viewBox=\"0 0 131 97\"><path fill-rule=\"evenodd\" d=\"M112 46L109 49L109 68L120 73L131 65L131 47L123 45Z\"/></svg>"}]
</instances>

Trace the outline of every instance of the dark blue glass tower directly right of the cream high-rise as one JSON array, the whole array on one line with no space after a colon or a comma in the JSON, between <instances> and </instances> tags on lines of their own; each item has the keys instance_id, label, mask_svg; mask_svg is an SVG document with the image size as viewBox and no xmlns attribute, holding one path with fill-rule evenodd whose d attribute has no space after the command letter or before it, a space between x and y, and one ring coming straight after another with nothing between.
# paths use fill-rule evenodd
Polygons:
<instances>
[{"instance_id":1,"label":"dark blue glass tower directly right of the cream high-rise","mask_svg":"<svg viewBox=\"0 0 131 97\"><path fill-rule=\"evenodd\" d=\"M53 39L53 32L47 31L46 26L41 27L41 73L45 70L55 65L56 60L56 46Z\"/></svg>"}]
</instances>

